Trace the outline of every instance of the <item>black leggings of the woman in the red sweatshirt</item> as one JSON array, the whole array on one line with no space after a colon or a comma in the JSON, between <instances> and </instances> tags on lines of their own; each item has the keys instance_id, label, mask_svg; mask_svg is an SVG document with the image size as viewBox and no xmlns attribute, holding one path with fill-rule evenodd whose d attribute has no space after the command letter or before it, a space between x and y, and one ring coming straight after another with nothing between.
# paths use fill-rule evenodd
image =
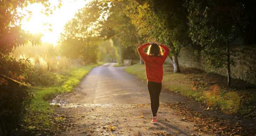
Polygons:
<instances>
[{"instance_id":1,"label":"black leggings of the woman in the red sweatshirt","mask_svg":"<svg viewBox=\"0 0 256 136\"><path fill-rule=\"evenodd\" d=\"M154 117L156 116L159 107L159 95L162 89L162 83L148 81L147 87L150 96L151 110Z\"/></svg>"}]
</instances>

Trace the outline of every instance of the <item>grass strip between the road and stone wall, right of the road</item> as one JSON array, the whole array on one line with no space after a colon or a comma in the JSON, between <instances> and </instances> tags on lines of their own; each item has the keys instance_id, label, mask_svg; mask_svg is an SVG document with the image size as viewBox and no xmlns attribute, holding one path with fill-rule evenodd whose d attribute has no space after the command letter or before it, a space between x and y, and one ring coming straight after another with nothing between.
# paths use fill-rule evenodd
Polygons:
<instances>
[{"instance_id":1,"label":"grass strip between the road and stone wall, right of the road","mask_svg":"<svg viewBox=\"0 0 256 136\"><path fill-rule=\"evenodd\" d=\"M255 116L255 92L253 93L254 95L245 96L248 93L246 90L238 91L218 84L209 85L207 73L173 73L170 69L170 66L164 66L165 72L162 81L163 87L169 91L191 97L196 101L207 104L209 107L219 107L225 114L240 113L247 116L252 113L252 116ZM125 68L125 70L142 80L146 80L144 65L138 63ZM198 77L203 80L198 81ZM241 99L241 96L245 96L245 99ZM241 104L245 100L247 106ZM250 112L247 111L248 108L251 109Z\"/></svg>"}]
</instances>

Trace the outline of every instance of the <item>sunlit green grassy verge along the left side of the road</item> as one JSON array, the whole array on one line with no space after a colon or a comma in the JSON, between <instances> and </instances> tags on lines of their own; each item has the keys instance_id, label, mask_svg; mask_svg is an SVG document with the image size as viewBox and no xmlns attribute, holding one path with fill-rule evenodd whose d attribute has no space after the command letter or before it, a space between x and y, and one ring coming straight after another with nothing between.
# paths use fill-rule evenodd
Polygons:
<instances>
[{"instance_id":1,"label":"sunlit green grassy verge along the left side of the road","mask_svg":"<svg viewBox=\"0 0 256 136\"><path fill-rule=\"evenodd\" d=\"M99 63L98 65L101 65ZM31 135L35 133L44 132L51 134L51 129L58 129L56 122L62 121L64 118L54 118L54 107L50 105L49 101L57 94L70 92L77 86L80 80L95 66L86 65L79 68L71 68L67 71L57 74L58 80L62 83L57 86L47 87L46 89L35 89L34 98L31 101L27 114L24 118L24 130ZM42 87L42 86L41 86ZM54 130L56 131L56 130Z\"/></svg>"}]
</instances>

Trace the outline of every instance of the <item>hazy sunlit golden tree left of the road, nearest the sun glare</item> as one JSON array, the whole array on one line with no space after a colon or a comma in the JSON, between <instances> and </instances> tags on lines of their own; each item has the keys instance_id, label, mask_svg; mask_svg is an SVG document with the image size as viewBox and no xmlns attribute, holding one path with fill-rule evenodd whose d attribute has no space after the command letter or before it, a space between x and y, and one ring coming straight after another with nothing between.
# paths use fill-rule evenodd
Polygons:
<instances>
[{"instance_id":1,"label":"hazy sunlit golden tree left of the road, nearest the sun glare","mask_svg":"<svg viewBox=\"0 0 256 136\"><path fill-rule=\"evenodd\" d=\"M60 39L63 55L73 59L81 57L85 63L97 62L98 44L101 40L98 23L104 19L102 13L106 6L106 3L98 0L92 1L66 23Z\"/></svg>"}]
</instances>

